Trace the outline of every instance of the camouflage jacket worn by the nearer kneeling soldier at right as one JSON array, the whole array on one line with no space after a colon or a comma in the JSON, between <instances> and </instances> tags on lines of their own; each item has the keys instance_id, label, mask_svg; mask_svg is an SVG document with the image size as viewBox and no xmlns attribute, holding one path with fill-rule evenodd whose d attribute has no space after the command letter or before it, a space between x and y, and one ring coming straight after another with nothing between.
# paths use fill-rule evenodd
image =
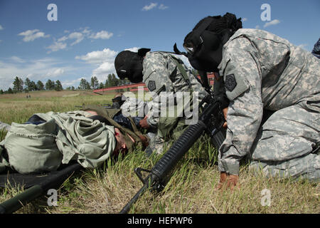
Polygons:
<instances>
[{"instance_id":1,"label":"camouflage jacket worn by the nearer kneeling soldier at right","mask_svg":"<svg viewBox=\"0 0 320 228\"><path fill-rule=\"evenodd\" d=\"M299 104L319 113L320 60L284 38L239 29L223 46L218 68L230 100L227 137L219 150L220 171L238 174L240 160L250 155L263 108Z\"/></svg>"}]
</instances>

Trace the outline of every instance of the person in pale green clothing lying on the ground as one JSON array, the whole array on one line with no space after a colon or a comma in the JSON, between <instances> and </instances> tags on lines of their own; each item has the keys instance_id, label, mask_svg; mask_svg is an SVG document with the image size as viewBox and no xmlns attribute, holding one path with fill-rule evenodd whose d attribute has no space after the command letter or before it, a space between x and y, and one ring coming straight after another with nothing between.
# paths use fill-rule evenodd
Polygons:
<instances>
[{"instance_id":1,"label":"person in pale green clothing lying on the ground","mask_svg":"<svg viewBox=\"0 0 320 228\"><path fill-rule=\"evenodd\" d=\"M26 123L12 123L0 142L0 172L50 172L76 160L86 168L101 165L119 152L148 145L133 120L132 130L112 119L117 110L88 105L66 113L36 113Z\"/></svg>"}]
</instances>

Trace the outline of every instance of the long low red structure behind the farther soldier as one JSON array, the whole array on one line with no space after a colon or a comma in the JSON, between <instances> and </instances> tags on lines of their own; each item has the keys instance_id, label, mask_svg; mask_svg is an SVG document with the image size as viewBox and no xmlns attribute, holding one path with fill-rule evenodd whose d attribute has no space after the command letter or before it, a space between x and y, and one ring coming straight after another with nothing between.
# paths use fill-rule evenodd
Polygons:
<instances>
[{"instance_id":1,"label":"long low red structure behind the farther soldier","mask_svg":"<svg viewBox=\"0 0 320 228\"><path fill-rule=\"evenodd\" d=\"M197 76L200 79L200 76ZM215 73L208 73L208 80L210 85L213 85L213 78L215 77ZM144 83L135 83L135 84L129 84L129 85L123 85L123 86L112 86L112 87L108 87L108 88L100 88L97 90L93 90L94 93L106 93L106 92L114 92L114 90L123 90L124 92L126 91L138 91L138 90L146 90L148 91L148 88L146 88L146 84Z\"/></svg>"}]
</instances>

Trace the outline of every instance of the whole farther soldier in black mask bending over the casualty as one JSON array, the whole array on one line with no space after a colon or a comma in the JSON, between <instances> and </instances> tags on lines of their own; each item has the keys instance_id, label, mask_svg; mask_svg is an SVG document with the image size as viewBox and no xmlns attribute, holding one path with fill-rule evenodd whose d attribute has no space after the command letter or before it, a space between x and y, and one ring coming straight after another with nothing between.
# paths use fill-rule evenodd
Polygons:
<instances>
[{"instance_id":1,"label":"whole farther soldier in black mask bending over the casualty","mask_svg":"<svg viewBox=\"0 0 320 228\"><path fill-rule=\"evenodd\" d=\"M132 83L144 82L153 93L152 112L140 121L140 125L146 129L158 128L146 153L150 155L151 152L162 152L164 141L169 137L177 139L186 127L186 120L193 118L193 113L186 114L186 108L202 100L206 91L183 61L172 53L150 52L147 48L139 49L137 53L122 51L115 58L114 66L120 79L128 78ZM178 104L178 92L191 95L182 106ZM163 103L163 100L172 101L169 101L169 109L174 108L174 115L166 110L168 104Z\"/></svg>"}]
</instances>

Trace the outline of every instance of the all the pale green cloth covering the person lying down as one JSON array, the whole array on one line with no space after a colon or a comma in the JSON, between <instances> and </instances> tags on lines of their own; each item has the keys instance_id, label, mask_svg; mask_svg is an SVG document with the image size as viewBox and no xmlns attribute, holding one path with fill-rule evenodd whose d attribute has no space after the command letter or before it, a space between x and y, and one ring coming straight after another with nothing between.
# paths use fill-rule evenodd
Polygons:
<instances>
[{"instance_id":1,"label":"all the pale green cloth covering the person lying down","mask_svg":"<svg viewBox=\"0 0 320 228\"><path fill-rule=\"evenodd\" d=\"M114 127L86 118L85 112L36 115L46 123L11 124L0 142L0 171L5 165L21 174L50 172L71 160L94 168L107 160L116 147Z\"/></svg>"}]
</instances>

